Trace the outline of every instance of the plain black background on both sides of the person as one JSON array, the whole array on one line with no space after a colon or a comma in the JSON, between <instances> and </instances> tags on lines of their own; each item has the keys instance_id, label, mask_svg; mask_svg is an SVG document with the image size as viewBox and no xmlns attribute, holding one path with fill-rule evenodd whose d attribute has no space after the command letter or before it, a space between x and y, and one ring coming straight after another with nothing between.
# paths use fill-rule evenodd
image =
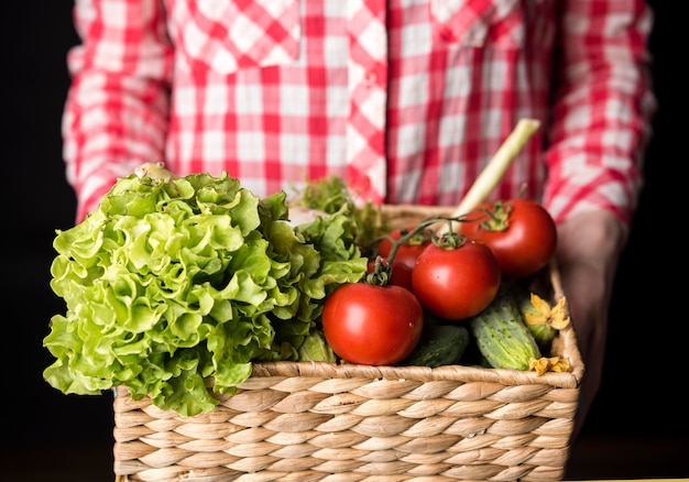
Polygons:
<instances>
[{"instance_id":1,"label":"plain black background on both sides of the person","mask_svg":"<svg viewBox=\"0 0 689 482\"><path fill-rule=\"evenodd\" d=\"M689 440L682 238L689 135L681 29L687 28L680 24L682 15L670 10L672 2L652 4L660 110L646 161L647 184L619 270L603 387L583 434L679 436L683 443ZM75 215L59 131L69 83L65 55L77 42L70 8L70 0L12 1L1 15L3 447L110 443L112 437L110 394L66 396L42 377L52 362L43 337L50 318L64 311L48 287L54 230L73 226Z\"/></svg>"}]
</instances>

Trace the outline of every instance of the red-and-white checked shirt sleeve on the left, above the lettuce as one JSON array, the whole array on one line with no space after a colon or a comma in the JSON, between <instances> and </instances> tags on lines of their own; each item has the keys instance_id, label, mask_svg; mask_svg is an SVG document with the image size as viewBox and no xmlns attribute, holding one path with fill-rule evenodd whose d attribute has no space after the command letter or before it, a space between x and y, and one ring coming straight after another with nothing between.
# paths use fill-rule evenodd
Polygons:
<instances>
[{"instance_id":1,"label":"red-and-white checked shirt sleeve on the left, above the lettuce","mask_svg":"<svg viewBox=\"0 0 689 482\"><path fill-rule=\"evenodd\" d=\"M160 0L77 0L74 20L63 155L80 221L118 177L164 160L172 48Z\"/></svg>"}]
</instances>

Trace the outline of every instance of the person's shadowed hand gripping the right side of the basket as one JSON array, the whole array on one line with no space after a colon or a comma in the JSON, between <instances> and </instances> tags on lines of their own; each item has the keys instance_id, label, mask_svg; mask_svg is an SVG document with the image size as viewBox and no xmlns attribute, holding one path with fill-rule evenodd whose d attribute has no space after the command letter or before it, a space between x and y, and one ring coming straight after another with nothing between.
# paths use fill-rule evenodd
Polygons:
<instances>
[{"instance_id":1,"label":"person's shadowed hand gripping the right side of the basket","mask_svg":"<svg viewBox=\"0 0 689 482\"><path fill-rule=\"evenodd\" d=\"M586 365L572 441L601 384L608 311L625 241L625 230L609 211L587 212L558 226L556 260Z\"/></svg>"}]
</instances>

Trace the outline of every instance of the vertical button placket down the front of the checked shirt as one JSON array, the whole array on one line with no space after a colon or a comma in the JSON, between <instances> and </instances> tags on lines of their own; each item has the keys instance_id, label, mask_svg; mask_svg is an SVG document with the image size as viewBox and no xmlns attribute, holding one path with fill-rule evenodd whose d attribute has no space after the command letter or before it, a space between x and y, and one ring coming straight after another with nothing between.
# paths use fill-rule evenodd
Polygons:
<instances>
[{"instance_id":1,"label":"vertical button placket down the front of the checked shirt","mask_svg":"<svg viewBox=\"0 0 689 482\"><path fill-rule=\"evenodd\" d=\"M385 0L349 0L348 176L362 199L382 202L386 191L385 105L387 36Z\"/></svg>"}]
</instances>

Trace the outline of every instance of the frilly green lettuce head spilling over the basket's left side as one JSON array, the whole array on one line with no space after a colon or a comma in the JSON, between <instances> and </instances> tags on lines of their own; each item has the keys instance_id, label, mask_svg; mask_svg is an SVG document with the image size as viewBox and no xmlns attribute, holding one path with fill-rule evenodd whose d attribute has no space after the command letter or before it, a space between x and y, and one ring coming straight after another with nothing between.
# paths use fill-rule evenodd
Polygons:
<instances>
[{"instance_id":1,"label":"frilly green lettuce head spilling over the basket's left side","mask_svg":"<svg viewBox=\"0 0 689 482\"><path fill-rule=\"evenodd\" d=\"M368 260L346 206L287 219L284 193L260 199L226 173L118 179L56 231L51 287L66 311L44 338L44 379L65 394L124 385L189 416L234 393L253 362L299 360L327 295Z\"/></svg>"}]
</instances>

